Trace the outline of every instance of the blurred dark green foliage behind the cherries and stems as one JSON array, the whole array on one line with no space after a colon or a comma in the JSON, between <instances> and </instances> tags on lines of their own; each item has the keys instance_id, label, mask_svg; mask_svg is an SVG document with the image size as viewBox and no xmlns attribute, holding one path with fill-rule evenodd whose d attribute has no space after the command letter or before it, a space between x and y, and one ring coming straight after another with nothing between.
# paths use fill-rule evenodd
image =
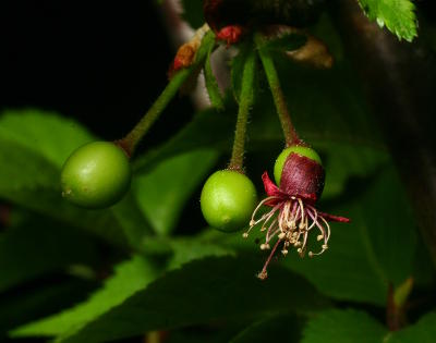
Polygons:
<instances>
[{"instance_id":1,"label":"blurred dark green foliage behind the cherries and stems","mask_svg":"<svg viewBox=\"0 0 436 343\"><path fill-rule=\"evenodd\" d=\"M201 2L185 4L185 17L199 26ZM397 27L382 4L368 2L367 9ZM413 37L411 28L401 27L393 30ZM57 113L1 114L0 198L20 217L12 216L0 232L0 296L53 275L62 283L11 296L0 311L8 318L0 336L97 343L165 331L162 342L434 342L432 296L404 329L389 332L384 323L389 286L413 278L407 304L420 304L434 287L434 267L329 17L311 32L328 44L334 68L313 70L279 56L277 65L295 126L324 160L319 207L352 219L331 225L329 250L314 259L290 252L261 282L255 274L266 256L255 244L259 234L245 241L198 220L202 183L230 156L237 76L246 49L241 47L231 65L237 91L215 101L225 101L225 109L195 113L161 146L135 156L131 193L106 210L75 208L60 194L63 161L96 137ZM301 40L288 38L296 46ZM211 69L207 77L215 81ZM211 87L221 96L216 84ZM261 75L246 158L258 189L262 172L271 171L282 146ZM58 306L47 305L52 302Z\"/></svg>"}]
</instances>

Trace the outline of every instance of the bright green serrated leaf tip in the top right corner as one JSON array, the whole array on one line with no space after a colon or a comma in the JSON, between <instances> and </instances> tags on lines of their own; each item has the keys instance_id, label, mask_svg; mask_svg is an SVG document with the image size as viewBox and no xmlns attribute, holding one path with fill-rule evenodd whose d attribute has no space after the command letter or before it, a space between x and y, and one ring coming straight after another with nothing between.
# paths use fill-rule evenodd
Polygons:
<instances>
[{"instance_id":1,"label":"bright green serrated leaf tip in the top right corner","mask_svg":"<svg viewBox=\"0 0 436 343\"><path fill-rule=\"evenodd\" d=\"M417 36L415 7L411 0L359 0L365 14L372 21L397 35L412 41Z\"/></svg>"}]
</instances>

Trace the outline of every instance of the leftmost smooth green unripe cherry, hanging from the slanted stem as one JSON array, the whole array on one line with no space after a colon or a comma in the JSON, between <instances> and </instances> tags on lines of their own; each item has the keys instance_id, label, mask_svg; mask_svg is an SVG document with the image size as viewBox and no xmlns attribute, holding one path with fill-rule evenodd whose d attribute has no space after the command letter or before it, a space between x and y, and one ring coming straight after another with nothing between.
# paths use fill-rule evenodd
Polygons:
<instances>
[{"instance_id":1,"label":"leftmost smooth green unripe cherry, hanging from the slanted stem","mask_svg":"<svg viewBox=\"0 0 436 343\"><path fill-rule=\"evenodd\" d=\"M94 142L77 148L61 172L62 196L85 208L104 208L129 191L131 166L125 152L111 142Z\"/></svg>"}]
</instances>

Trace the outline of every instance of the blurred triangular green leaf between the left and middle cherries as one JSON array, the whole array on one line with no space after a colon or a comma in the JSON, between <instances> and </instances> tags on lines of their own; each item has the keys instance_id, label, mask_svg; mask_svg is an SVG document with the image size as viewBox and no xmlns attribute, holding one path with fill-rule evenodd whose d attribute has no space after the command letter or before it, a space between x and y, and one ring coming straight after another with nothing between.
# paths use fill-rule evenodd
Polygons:
<instances>
[{"instance_id":1,"label":"blurred triangular green leaf between the left and middle cherries","mask_svg":"<svg viewBox=\"0 0 436 343\"><path fill-rule=\"evenodd\" d=\"M137 203L155 231L170 233L185 201L217 162L215 150L194 150L155 164L149 173L138 174L132 185Z\"/></svg>"}]
</instances>

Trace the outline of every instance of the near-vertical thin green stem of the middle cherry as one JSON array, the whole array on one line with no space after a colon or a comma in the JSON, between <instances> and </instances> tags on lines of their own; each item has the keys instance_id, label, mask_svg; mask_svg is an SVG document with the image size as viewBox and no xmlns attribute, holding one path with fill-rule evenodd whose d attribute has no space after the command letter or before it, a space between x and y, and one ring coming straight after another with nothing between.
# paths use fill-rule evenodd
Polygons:
<instances>
[{"instance_id":1,"label":"near-vertical thin green stem of the middle cherry","mask_svg":"<svg viewBox=\"0 0 436 343\"><path fill-rule=\"evenodd\" d=\"M246 124L249 121L250 109L254 101L254 74L256 71L256 54L251 51L245 59L242 72L241 96L238 110L237 128L229 169L243 172Z\"/></svg>"}]
</instances>

